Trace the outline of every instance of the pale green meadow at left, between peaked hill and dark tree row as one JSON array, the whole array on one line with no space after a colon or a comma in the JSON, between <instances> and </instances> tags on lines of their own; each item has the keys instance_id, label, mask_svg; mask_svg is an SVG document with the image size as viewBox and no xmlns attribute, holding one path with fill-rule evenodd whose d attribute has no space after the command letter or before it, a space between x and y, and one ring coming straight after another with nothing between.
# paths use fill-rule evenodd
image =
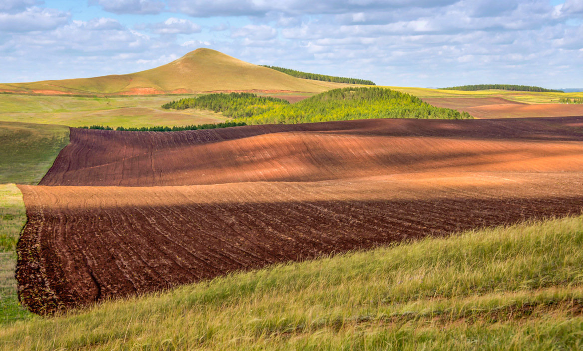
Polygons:
<instances>
[{"instance_id":1,"label":"pale green meadow at left, between peaked hill and dark tree row","mask_svg":"<svg viewBox=\"0 0 583 351\"><path fill-rule=\"evenodd\" d=\"M111 125L153 127L224 122L212 111L167 111L160 108L180 96L72 97L0 94L0 121L61 124L69 127Z\"/></svg>"}]
</instances>

